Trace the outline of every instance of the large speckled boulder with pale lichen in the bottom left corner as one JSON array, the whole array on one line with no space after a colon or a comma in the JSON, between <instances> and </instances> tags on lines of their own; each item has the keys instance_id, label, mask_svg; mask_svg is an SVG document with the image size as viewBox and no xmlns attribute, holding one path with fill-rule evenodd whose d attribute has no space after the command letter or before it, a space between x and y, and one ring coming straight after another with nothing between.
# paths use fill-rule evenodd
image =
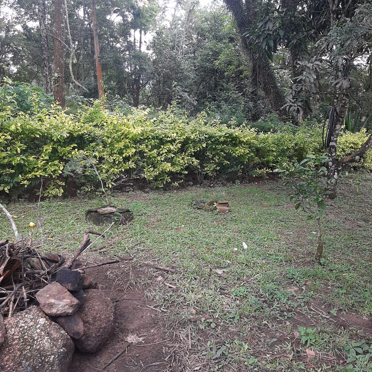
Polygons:
<instances>
[{"instance_id":1,"label":"large speckled boulder with pale lichen in the bottom left corner","mask_svg":"<svg viewBox=\"0 0 372 372\"><path fill-rule=\"evenodd\" d=\"M0 371L67 372L74 352L68 334L37 306L5 321L0 347Z\"/></svg>"}]
</instances>

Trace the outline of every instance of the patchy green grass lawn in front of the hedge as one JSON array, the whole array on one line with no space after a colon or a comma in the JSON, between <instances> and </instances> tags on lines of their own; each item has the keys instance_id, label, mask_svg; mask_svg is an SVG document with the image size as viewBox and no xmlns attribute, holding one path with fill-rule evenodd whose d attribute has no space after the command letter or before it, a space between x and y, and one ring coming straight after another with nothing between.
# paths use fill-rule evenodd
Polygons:
<instances>
[{"instance_id":1,"label":"patchy green grass lawn in front of the hedge","mask_svg":"<svg viewBox=\"0 0 372 372\"><path fill-rule=\"evenodd\" d=\"M229 201L231 212L191 208L194 199L212 198ZM294 209L280 182L120 193L113 200L135 219L106 234L109 257L180 270L166 279L175 289L141 277L136 285L187 341L178 350L185 371L372 371L371 175L341 181L323 220L321 263L312 260L315 224ZM28 223L48 214L45 251L60 252L77 248L91 227L85 210L102 203L82 197L44 201L39 211L23 201L7 208L25 237L39 236ZM0 240L12 236L5 218L0 228Z\"/></svg>"}]
</instances>

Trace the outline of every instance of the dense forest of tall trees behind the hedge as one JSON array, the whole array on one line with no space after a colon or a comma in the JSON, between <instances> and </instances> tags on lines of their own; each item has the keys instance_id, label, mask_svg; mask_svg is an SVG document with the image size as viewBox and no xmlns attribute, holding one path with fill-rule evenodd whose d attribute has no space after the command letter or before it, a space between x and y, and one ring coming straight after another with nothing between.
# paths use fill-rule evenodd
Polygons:
<instances>
[{"instance_id":1,"label":"dense forest of tall trees behind the hedge","mask_svg":"<svg viewBox=\"0 0 372 372\"><path fill-rule=\"evenodd\" d=\"M90 1L2 0L0 6L0 78L47 93L63 85L70 107L98 97ZM109 107L177 105L190 115L207 109L223 122L278 115L298 123L324 118L347 80L350 112L359 128L369 127L370 1L103 0L95 6ZM64 97L58 100L64 105Z\"/></svg>"}]
</instances>

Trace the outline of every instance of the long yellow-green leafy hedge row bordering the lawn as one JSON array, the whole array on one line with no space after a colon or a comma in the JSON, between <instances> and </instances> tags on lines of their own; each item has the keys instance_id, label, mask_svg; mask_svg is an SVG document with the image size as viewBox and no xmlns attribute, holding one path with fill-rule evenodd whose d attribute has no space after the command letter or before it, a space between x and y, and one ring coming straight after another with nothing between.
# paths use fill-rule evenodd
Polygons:
<instances>
[{"instance_id":1,"label":"long yellow-green leafy hedge row bordering the lawn","mask_svg":"<svg viewBox=\"0 0 372 372\"><path fill-rule=\"evenodd\" d=\"M52 181L49 195L60 194L57 177L64 174L98 173L108 186L118 177L138 177L160 187L192 172L257 176L322 152L317 126L258 133L221 125L205 113L190 119L164 111L153 117L150 110L133 109L121 116L96 103L73 115L58 106L33 113L6 106L0 120L0 190L7 192L45 177ZM365 132L341 135L340 155L355 151L365 138ZM359 166L372 170L371 152Z\"/></svg>"}]
</instances>

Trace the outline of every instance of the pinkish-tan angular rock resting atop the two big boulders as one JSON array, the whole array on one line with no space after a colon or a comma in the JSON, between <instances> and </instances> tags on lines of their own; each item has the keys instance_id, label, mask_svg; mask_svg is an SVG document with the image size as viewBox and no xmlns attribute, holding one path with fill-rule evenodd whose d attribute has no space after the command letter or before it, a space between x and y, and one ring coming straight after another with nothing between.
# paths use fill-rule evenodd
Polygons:
<instances>
[{"instance_id":1,"label":"pinkish-tan angular rock resting atop the two big boulders","mask_svg":"<svg viewBox=\"0 0 372 372\"><path fill-rule=\"evenodd\" d=\"M60 283L52 282L36 294L41 310L53 317L74 314L80 302Z\"/></svg>"}]
</instances>

